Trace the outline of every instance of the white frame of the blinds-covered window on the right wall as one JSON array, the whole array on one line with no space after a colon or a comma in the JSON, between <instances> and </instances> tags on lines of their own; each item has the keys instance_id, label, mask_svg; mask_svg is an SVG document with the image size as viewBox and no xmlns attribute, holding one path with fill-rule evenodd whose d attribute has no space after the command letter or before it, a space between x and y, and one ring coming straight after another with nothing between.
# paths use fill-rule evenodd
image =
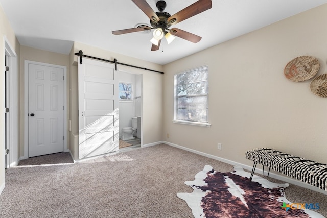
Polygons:
<instances>
[{"instance_id":1,"label":"white frame of the blinds-covered window on the right wall","mask_svg":"<svg viewBox=\"0 0 327 218\"><path fill-rule=\"evenodd\" d=\"M182 95L182 96L178 96L178 93L177 93L177 87L178 87L178 84L177 84L177 78L178 78L178 75L180 74L192 74L194 71L197 71L197 70L201 70L201 69L204 69L204 68L207 68L207 71L206 71L206 74L207 74L207 86L205 88L207 88L207 93L202 93L202 94L194 94L194 96L206 96L206 122L200 122L200 121L190 121L190 120L182 120L182 119L177 119L177 115L178 115L178 98L184 98L185 96L192 96L192 94L186 94L186 95ZM204 81L204 80L202 80ZM198 81L195 81L193 84L196 84L196 83L199 83L201 82L201 80L198 80ZM202 87L202 86L201 86ZM177 124L188 124L188 125L197 125L197 126L205 126L205 127L211 127L211 124L209 123L209 67L208 65L205 65L205 66L201 66L201 67L198 67L198 68L193 68L193 69L190 69L190 70L185 70L183 72L179 72L177 74L174 74L174 118L173 118L173 123L177 123Z\"/></svg>"}]
</instances>

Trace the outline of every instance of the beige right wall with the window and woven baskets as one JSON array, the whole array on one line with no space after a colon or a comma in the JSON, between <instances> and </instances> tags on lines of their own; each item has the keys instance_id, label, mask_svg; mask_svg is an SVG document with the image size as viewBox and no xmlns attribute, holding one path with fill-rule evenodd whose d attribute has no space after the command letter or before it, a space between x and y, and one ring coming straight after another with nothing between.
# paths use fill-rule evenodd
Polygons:
<instances>
[{"instance_id":1,"label":"beige right wall with the window and woven baskets","mask_svg":"<svg viewBox=\"0 0 327 218\"><path fill-rule=\"evenodd\" d=\"M163 140L246 165L245 151L261 147L327 163L327 101L310 81L284 76L303 55L319 59L317 75L326 73L326 20L327 4L165 65ZM172 123L174 74L203 65L212 126Z\"/></svg>"}]
</instances>

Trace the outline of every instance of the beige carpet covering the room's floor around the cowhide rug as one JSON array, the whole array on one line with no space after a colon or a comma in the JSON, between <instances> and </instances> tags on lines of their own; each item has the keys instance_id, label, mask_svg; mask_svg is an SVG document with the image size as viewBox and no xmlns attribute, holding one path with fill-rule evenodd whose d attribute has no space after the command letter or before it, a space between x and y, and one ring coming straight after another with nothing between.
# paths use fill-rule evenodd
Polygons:
<instances>
[{"instance_id":1,"label":"beige carpet covering the room's floor around the cowhide rug","mask_svg":"<svg viewBox=\"0 0 327 218\"><path fill-rule=\"evenodd\" d=\"M65 161L54 158L58 164L31 161L6 170L1 217L193 217L176 196L192 192L184 182L194 180L205 164L220 172L233 170L165 144L75 164L67 162L67 153L61 155ZM294 203L319 203L316 212L327 215L326 195L294 185L285 192Z\"/></svg>"}]
</instances>

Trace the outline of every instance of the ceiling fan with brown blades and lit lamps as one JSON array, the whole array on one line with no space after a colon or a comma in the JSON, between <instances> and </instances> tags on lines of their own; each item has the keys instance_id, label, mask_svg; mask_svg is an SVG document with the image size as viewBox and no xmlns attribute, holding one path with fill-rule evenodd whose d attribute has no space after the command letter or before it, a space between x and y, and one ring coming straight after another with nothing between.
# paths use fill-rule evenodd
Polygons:
<instances>
[{"instance_id":1,"label":"ceiling fan with brown blades and lit lamps","mask_svg":"<svg viewBox=\"0 0 327 218\"><path fill-rule=\"evenodd\" d=\"M186 39L193 43L199 42L202 38L200 36L186 32L184 30L180 30L178 28L171 28L171 29L169 28L173 24L188 19L212 7L211 0L198 0L192 5L177 12L176 14L170 15L169 13L164 11L166 8L165 1L158 1L156 3L156 6L159 10L158 12L154 12L150 7L150 5L146 2L146 0L132 0L132 1L136 4L136 6L139 9L141 9L150 18L150 24L152 27L142 25L136 28L112 31L112 34L121 35L125 33L148 31L154 29L153 38L150 40L152 42L151 51L156 51L159 49L161 39L164 36L167 39L168 44L175 38L174 36L180 37L182 39Z\"/></svg>"}]
</instances>

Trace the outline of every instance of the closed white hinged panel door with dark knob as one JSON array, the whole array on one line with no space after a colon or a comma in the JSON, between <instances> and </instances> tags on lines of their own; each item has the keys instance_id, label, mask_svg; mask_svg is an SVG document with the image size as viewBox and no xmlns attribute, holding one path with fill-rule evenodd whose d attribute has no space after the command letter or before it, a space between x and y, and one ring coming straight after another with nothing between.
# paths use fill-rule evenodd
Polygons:
<instances>
[{"instance_id":1,"label":"closed white hinged panel door with dark knob","mask_svg":"<svg viewBox=\"0 0 327 218\"><path fill-rule=\"evenodd\" d=\"M29 63L29 157L63 152L63 69Z\"/></svg>"}]
</instances>

